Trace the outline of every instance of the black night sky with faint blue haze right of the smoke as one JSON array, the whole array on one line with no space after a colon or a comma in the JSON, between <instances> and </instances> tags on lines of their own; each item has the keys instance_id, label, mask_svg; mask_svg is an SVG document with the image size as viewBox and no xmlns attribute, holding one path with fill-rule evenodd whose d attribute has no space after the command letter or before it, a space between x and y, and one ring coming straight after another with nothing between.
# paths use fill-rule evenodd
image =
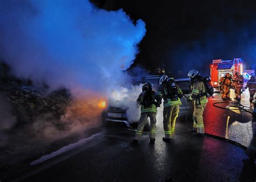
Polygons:
<instances>
[{"instance_id":1,"label":"black night sky with faint blue haze right of the smoke","mask_svg":"<svg viewBox=\"0 0 256 182\"><path fill-rule=\"evenodd\" d=\"M122 8L146 23L146 36L132 67L165 65L177 75L197 68L209 74L213 59L256 60L256 1L92 0L98 8ZM135 22L134 21L134 22Z\"/></svg>"}]
</instances>

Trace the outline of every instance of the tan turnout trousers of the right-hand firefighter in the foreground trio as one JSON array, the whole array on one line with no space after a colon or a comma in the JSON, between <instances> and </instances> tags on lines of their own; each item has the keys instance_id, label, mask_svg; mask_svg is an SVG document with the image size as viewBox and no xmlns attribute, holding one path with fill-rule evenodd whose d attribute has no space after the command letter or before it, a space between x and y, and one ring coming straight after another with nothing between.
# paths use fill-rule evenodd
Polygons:
<instances>
[{"instance_id":1,"label":"tan turnout trousers of the right-hand firefighter in the foreground trio","mask_svg":"<svg viewBox=\"0 0 256 182\"><path fill-rule=\"evenodd\" d=\"M197 129L198 134L204 134L204 109L206 107L206 103L196 104L194 103L194 112L193 112L193 129Z\"/></svg>"}]
</instances>

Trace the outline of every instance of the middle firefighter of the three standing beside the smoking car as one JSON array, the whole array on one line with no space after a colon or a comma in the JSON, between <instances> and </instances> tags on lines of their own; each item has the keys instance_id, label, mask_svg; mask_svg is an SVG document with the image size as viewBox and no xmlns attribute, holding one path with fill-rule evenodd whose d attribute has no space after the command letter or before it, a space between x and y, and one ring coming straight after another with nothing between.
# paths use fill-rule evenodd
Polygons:
<instances>
[{"instance_id":1,"label":"middle firefighter of the three standing beside the smoking car","mask_svg":"<svg viewBox=\"0 0 256 182\"><path fill-rule=\"evenodd\" d=\"M160 85L157 91L159 101L164 99L164 142L173 142L175 123L179 114L180 98L183 93L179 86L174 82L174 78L168 78L166 75L161 76Z\"/></svg>"}]
</instances>

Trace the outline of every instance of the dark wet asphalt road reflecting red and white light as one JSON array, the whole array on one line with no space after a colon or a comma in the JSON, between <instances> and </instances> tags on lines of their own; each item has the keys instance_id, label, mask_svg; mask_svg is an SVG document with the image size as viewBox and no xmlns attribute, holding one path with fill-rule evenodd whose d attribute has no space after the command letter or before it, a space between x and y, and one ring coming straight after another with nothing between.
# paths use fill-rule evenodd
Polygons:
<instances>
[{"instance_id":1,"label":"dark wet asphalt road reflecting red and white light","mask_svg":"<svg viewBox=\"0 0 256 182\"><path fill-rule=\"evenodd\" d=\"M251 115L215 108L212 103L217 101L218 95L207 105L205 131L247 145ZM165 143L163 124L158 123L156 143L150 144L144 132L138 145L131 143L134 131L107 128L102 138L91 141L95 145L23 181L255 181L255 168L244 149L193 137L191 126L179 118L174 143Z\"/></svg>"}]
</instances>

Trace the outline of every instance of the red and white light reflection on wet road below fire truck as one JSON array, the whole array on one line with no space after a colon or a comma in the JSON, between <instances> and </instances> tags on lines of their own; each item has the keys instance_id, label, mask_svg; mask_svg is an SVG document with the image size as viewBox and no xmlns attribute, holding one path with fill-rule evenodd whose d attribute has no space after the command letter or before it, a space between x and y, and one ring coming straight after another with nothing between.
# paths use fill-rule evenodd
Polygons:
<instances>
[{"instance_id":1,"label":"red and white light reflection on wet road below fire truck","mask_svg":"<svg viewBox=\"0 0 256 182\"><path fill-rule=\"evenodd\" d=\"M231 92L231 98L233 101L236 101L233 99L233 92ZM231 139L247 147L253 135L252 114L244 110L237 110L235 107L230 107L230 103L218 104L218 106L229 108L229 110L220 109L213 106L215 102L228 101L223 101L220 94L214 94L214 98L208 100L207 107L204 111L205 132L207 134ZM252 107L249 101L248 90L241 95L240 103L244 106Z\"/></svg>"}]
</instances>

